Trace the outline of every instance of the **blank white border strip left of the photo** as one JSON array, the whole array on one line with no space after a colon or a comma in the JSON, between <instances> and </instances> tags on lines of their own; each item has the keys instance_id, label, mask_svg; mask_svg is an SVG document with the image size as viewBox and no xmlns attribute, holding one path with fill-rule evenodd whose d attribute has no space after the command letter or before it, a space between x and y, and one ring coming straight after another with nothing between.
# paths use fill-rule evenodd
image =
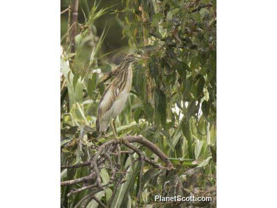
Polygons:
<instances>
[{"instance_id":1,"label":"blank white border strip left of the photo","mask_svg":"<svg viewBox=\"0 0 277 208\"><path fill-rule=\"evenodd\" d=\"M59 6L1 2L0 207L60 207Z\"/></svg>"}]
</instances>

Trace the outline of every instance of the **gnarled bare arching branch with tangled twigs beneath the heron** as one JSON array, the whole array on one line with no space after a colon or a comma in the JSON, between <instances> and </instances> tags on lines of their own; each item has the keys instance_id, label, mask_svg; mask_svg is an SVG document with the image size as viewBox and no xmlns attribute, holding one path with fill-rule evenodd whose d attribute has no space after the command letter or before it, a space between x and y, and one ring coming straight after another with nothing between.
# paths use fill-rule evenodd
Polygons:
<instances>
[{"instance_id":1,"label":"gnarled bare arching branch with tangled twigs beneath the heron","mask_svg":"<svg viewBox=\"0 0 277 208\"><path fill-rule=\"evenodd\" d=\"M132 143L139 143L140 145L149 148L153 153L155 153L161 159L163 163L157 164L155 161L147 157L144 154L144 152L142 152L139 148L132 145ZM122 145L128 147L133 151L121 151L120 146ZM122 165L120 163L122 153L133 155L134 152L138 154L139 158L134 159L129 166L127 166L126 168L123 168L122 170ZM141 166L143 166L144 162L146 162L155 168L164 168L164 169L173 168L173 165L169 160L169 158L155 144L148 141L141 135L126 136L121 139L114 139L114 140L107 141L101 146L99 146L97 149L97 153L93 156L91 161L85 162L80 165L75 165L75 166L61 166L61 168L78 168L82 166L90 166L92 171L88 176L81 177L75 180L63 181L60 183L60 186L70 186L74 184L87 182L87 183L84 183L83 186L81 186L80 188L77 188L77 189L73 188L67 194L67 196L79 193L80 191L83 191L86 189L90 189L91 190L90 194L86 195L83 199L81 199L80 202L78 203L78 206L85 205L89 201L89 199L94 199L99 204L101 204L100 201L96 199L95 194L101 190L104 190L106 187L115 186L114 193L112 195L112 198L113 198L115 196L115 191L117 187L120 184L125 182L124 178L126 174L129 173L130 167L138 161L141 161L141 164L142 164ZM101 168L105 168L110 174L110 180L105 184L102 184L102 181L101 181L101 175L100 175ZM142 174L143 172L141 171L141 174L139 176L140 180L141 180ZM140 188L138 195L141 194L141 191L142 190ZM101 204L101 206L104 207L105 205Z\"/></svg>"}]
</instances>

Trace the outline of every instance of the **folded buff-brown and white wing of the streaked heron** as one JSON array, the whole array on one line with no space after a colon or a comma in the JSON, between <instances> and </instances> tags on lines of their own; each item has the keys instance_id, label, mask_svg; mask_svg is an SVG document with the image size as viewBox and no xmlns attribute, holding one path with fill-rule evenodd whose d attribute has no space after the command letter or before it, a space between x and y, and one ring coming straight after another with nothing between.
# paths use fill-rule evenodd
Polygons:
<instances>
[{"instance_id":1,"label":"folded buff-brown and white wing of the streaked heron","mask_svg":"<svg viewBox=\"0 0 277 208\"><path fill-rule=\"evenodd\" d=\"M118 87L111 83L105 90L98 107L98 115L96 120L96 129L99 130L100 120L102 116L111 109L113 103L119 95Z\"/></svg>"}]
</instances>

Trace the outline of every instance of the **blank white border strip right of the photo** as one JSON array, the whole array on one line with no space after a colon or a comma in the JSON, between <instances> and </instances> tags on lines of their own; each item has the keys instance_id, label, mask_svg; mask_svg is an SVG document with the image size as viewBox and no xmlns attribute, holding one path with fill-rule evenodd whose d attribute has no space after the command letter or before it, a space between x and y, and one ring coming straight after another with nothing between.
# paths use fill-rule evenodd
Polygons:
<instances>
[{"instance_id":1,"label":"blank white border strip right of the photo","mask_svg":"<svg viewBox=\"0 0 277 208\"><path fill-rule=\"evenodd\" d=\"M274 207L277 1L218 0L218 207Z\"/></svg>"}]
</instances>

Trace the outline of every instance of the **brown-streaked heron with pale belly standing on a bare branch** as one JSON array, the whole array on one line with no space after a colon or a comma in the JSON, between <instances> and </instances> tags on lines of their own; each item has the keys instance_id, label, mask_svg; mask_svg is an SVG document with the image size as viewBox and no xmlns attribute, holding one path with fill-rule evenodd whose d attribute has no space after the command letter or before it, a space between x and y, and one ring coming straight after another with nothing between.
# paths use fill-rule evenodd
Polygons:
<instances>
[{"instance_id":1,"label":"brown-streaked heron with pale belly standing on a bare branch","mask_svg":"<svg viewBox=\"0 0 277 208\"><path fill-rule=\"evenodd\" d=\"M137 53L129 54L124 57L119 67L114 71L115 77L104 91L99 102L96 120L98 135L106 132L110 123L113 124L113 130L117 134L115 119L123 110L132 87L132 63L146 58L147 56ZM112 120L113 122L111 122Z\"/></svg>"}]
</instances>

